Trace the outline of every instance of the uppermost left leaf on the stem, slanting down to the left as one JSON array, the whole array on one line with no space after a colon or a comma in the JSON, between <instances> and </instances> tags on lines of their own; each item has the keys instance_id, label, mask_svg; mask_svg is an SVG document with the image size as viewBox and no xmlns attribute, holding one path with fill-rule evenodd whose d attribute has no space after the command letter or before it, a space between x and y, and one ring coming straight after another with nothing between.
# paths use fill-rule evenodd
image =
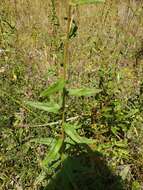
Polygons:
<instances>
[{"instance_id":1,"label":"uppermost left leaf on the stem, slanting down to the left","mask_svg":"<svg viewBox=\"0 0 143 190\"><path fill-rule=\"evenodd\" d=\"M50 86L49 88L45 89L40 96L41 97L45 97L45 96L49 96L51 94L54 94L56 92L62 91L63 88L65 86L65 80L60 79L58 80L55 84L53 84L52 86Z\"/></svg>"}]
</instances>

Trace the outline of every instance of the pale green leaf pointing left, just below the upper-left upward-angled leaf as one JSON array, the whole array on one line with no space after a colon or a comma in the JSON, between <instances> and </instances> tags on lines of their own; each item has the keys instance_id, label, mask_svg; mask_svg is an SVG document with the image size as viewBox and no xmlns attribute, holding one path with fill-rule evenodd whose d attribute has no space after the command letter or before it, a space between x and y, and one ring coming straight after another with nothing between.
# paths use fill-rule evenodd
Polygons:
<instances>
[{"instance_id":1,"label":"pale green leaf pointing left, just below the upper-left upward-angled leaf","mask_svg":"<svg viewBox=\"0 0 143 190\"><path fill-rule=\"evenodd\" d=\"M59 109L61 108L57 103L54 102L44 103L44 102L26 101L26 104L31 107L52 113L58 113Z\"/></svg>"}]
</instances>

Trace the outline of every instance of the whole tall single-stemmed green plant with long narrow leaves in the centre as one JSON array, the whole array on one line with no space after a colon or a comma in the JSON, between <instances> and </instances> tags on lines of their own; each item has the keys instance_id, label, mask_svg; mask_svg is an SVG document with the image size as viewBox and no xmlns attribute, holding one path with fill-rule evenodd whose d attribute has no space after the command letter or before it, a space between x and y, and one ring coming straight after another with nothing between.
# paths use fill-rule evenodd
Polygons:
<instances>
[{"instance_id":1,"label":"whole tall single-stemmed green plant with long narrow leaves in the centre","mask_svg":"<svg viewBox=\"0 0 143 190\"><path fill-rule=\"evenodd\" d=\"M38 144L45 144L50 147L45 158L41 161L42 173L36 180L36 184L42 181L48 172L52 172L55 170L59 164L66 158L66 150L70 145L76 144L93 144L95 141L93 139L88 139L86 137L82 137L78 134L77 129L80 126L76 124L70 124L66 120L66 104L67 99L70 96L76 97L89 97L94 96L101 92L99 89L94 88L77 88L70 89L67 87L68 85L68 73L67 67L69 65L69 43L71 40L71 23L73 22L72 18L72 7L75 5L83 5L102 2L97 0L80 0L80 1L70 1L68 5L68 15L67 15L67 31L66 31L66 39L64 43L64 60L63 60L63 76L56 81L52 86L45 89L41 92L41 98L48 98L48 102L33 102L26 101L26 104L32 106L34 108L47 111L49 113L61 115L61 123L60 128L61 132L58 135L55 135L55 138L40 138L40 139L32 139L30 142L35 142ZM59 94L57 98L54 98L55 94ZM37 182L38 181L38 182Z\"/></svg>"}]
</instances>

